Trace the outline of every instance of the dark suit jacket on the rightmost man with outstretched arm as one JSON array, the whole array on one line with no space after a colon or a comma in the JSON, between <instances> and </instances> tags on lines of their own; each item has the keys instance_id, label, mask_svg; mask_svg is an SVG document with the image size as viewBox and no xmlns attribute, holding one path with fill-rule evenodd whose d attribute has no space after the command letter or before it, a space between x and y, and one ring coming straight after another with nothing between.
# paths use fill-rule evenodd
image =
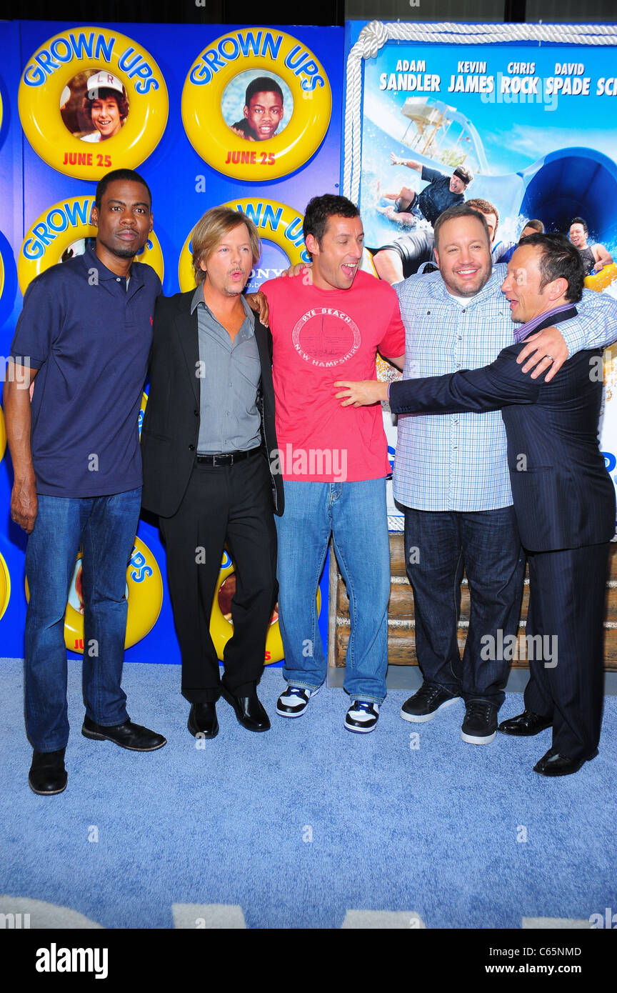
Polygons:
<instances>
[{"instance_id":1,"label":"dark suit jacket on the rightmost man with outstretched arm","mask_svg":"<svg viewBox=\"0 0 617 993\"><path fill-rule=\"evenodd\" d=\"M547 320L538 331L576 314ZM568 358L551 382L517 364L525 343L490 365L390 387L393 413L454 413L501 408L508 468L521 541L529 551L555 551L609 541L615 491L598 447L601 350Z\"/></svg>"}]
</instances>

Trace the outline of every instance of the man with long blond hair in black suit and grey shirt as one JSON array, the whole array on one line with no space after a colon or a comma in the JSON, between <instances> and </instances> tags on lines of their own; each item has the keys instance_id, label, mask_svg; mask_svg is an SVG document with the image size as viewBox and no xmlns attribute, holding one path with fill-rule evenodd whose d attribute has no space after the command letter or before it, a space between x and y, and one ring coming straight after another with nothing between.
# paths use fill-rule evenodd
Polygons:
<instances>
[{"instance_id":1,"label":"man with long blond hair in black suit and grey shirt","mask_svg":"<svg viewBox=\"0 0 617 993\"><path fill-rule=\"evenodd\" d=\"M261 245L243 213L204 213L192 235L196 289L160 297L150 393L142 430L142 503L159 515L182 651L188 730L214 738L220 695L250 731L267 731L257 697L277 599L277 537L283 512L276 452L271 337L242 296ZM222 680L210 638L223 546L236 567L233 637Z\"/></svg>"}]
</instances>

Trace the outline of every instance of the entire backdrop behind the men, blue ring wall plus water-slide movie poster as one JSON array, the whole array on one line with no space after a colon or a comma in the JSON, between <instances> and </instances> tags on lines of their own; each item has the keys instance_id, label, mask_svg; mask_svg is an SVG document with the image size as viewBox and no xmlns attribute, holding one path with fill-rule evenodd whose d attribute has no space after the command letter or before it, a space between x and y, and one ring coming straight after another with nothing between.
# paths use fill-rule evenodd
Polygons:
<instances>
[{"instance_id":1,"label":"entire backdrop behind the men, blue ring wall plus water-slide movie poster","mask_svg":"<svg viewBox=\"0 0 617 993\"><path fill-rule=\"evenodd\" d=\"M152 189L154 231L141 258L157 270L166 294L193 285L190 230L218 204L249 214L262 235L249 290L307 259L302 221L314 195L343 192L357 200L370 247L396 241L410 228L384 209L402 186L420 191L425 184L417 172L392 165L391 156L444 174L459 164L470 168L467 199L498 208L496 242L515 242L529 217L566 230L580 214L590 243L614 254L612 38L596 47L583 44L593 27L512 25L495 28L500 40L492 42L492 30L351 22L343 47L337 28L0 25L0 354L9 354L30 281L82 251L95 234L89 214L96 181L119 167L138 169ZM265 122L244 112L247 85L264 76L279 107ZM95 101L94 90L104 99ZM420 218L414 229L428 226ZM616 272L607 267L595 288L614 293ZM393 374L378 364L381 375ZM610 352L605 376L601 445L617 481ZM388 412L384 423L392 463L396 426ZM7 463L0 411L0 654L21 657L26 537L10 520ZM388 512L397 529L401 510L391 492ZM230 634L231 573L225 554L213 614L221 651ZM324 577L325 605L327 570ZM165 554L158 530L145 521L127 589L127 660L178 662ZM76 564L65 639L77 651L80 615ZM325 609L320 624L325 640ZM276 626L267 654L268 662L282 654Z\"/></svg>"}]
</instances>

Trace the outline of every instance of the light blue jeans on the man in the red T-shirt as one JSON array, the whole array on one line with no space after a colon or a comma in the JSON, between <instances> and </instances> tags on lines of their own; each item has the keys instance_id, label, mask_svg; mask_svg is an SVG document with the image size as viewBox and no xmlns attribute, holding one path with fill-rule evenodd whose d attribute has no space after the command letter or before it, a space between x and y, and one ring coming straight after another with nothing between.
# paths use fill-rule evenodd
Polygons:
<instances>
[{"instance_id":1,"label":"light blue jeans on the man in the red T-shirt","mask_svg":"<svg viewBox=\"0 0 617 993\"><path fill-rule=\"evenodd\" d=\"M349 594L351 634L344 688L354 699L381 703L386 695L390 596L386 481L286 481L285 513L275 519L283 675L289 683L309 689L325 679L315 595L331 532Z\"/></svg>"}]
</instances>

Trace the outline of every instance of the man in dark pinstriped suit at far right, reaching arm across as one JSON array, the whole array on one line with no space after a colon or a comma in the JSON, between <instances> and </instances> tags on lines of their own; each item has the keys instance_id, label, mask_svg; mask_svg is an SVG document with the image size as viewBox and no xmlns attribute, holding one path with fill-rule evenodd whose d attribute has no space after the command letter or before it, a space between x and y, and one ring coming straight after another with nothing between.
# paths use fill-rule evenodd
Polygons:
<instances>
[{"instance_id":1,"label":"man in dark pinstriped suit at far right, reaching arm across","mask_svg":"<svg viewBox=\"0 0 617 993\"><path fill-rule=\"evenodd\" d=\"M525 711L499 730L528 736L553 726L553 746L534 767L543 776L575 773L597 755L615 492L597 438L601 351L568 358L551 382L524 375L517 357L529 335L576 314L583 278L578 254L564 237L523 238L502 284L512 319L522 325L516 344L483 368L408 379L389 390L398 414L501 408L514 508L530 565L526 643L536 650ZM346 387L336 394L345 404L385 398L381 383L335 385Z\"/></svg>"}]
</instances>

